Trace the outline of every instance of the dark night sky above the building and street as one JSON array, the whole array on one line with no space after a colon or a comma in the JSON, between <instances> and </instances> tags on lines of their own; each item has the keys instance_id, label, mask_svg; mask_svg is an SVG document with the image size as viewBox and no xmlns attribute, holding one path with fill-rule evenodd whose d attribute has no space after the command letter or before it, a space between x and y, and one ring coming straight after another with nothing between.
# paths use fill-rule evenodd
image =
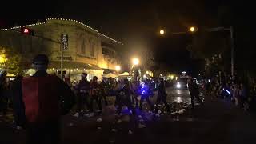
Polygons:
<instances>
[{"instance_id":1,"label":"dark night sky above the building and street","mask_svg":"<svg viewBox=\"0 0 256 144\"><path fill-rule=\"evenodd\" d=\"M218 6L226 4L227 0L12 1L2 5L6 10L0 11L0 26L49 17L73 18L125 43L126 55L139 56L140 51L150 49L158 62L165 62L173 70L184 70L192 65L186 51L188 38L170 33L186 31L188 26L214 26ZM161 28L167 30L165 38L158 35Z\"/></svg>"}]
</instances>

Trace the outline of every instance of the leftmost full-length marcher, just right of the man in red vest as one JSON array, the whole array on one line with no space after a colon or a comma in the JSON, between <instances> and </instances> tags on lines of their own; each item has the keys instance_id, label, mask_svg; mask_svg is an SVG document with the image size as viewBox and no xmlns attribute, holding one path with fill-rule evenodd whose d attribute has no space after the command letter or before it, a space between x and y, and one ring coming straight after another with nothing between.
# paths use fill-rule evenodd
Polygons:
<instances>
[{"instance_id":1,"label":"leftmost full-length marcher, just right of the man in red vest","mask_svg":"<svg viewBox=\"0 0 256 144\"><path fill-rule=\"evenodd\" d=\"M79 113L81 112L82 108L86 104L87 109L90 109L90 104L88 101L89 97L89 90L90 90L90 82L87 81L87 74L82 73L81 80L79 83L74 87L76 91L76 102L77 102L77 111L74 114L74 117L79 117Z\"/></svg>"}]
</instances>

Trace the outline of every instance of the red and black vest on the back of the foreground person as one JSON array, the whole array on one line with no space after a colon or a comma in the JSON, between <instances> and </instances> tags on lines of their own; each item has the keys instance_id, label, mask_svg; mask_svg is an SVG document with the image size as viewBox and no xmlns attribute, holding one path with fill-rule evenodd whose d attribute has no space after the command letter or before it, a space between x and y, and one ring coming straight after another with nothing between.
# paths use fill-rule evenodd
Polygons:
<instances>
[{"instance_id":1,"label":"red and black vest on the back of the foreground person","mask_svg":"<svg viewBox=\"0 0 256 144\"><path fill-rule=\"evenodd\" d=\"M58 81L51 75L22 79L22 99L28 122L48 122L59 118Z\"/></svg>"}]
</instances>

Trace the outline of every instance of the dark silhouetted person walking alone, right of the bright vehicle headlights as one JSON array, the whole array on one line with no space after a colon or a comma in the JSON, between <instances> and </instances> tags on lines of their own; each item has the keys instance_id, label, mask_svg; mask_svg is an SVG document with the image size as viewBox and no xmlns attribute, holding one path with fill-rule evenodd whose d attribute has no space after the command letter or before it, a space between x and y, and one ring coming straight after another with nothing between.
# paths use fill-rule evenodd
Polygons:
<instances>
[{"instance_id":1,"label":"dark silhouetted person walking alone, right of the bright vehicle headlights","mask_svg":"<svg viewBox=\"0 0 256 144\"><path fill-rule=\"evenodd\" d=\"M195 81L191 81L189 84L190 97L192 109L194 109L194 98L197 98L197 101L202 104L202 100L199 98L199 87Z\"/></svg>"}]
</instances>

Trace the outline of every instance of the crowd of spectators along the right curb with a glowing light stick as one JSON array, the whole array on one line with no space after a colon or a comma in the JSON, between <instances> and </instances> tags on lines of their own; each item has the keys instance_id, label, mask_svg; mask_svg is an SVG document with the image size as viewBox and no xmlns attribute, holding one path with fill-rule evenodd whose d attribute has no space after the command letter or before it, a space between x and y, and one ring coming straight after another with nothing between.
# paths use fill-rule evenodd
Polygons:
<instances>
[{"instance_id":1,"label":"crowd of spectators along the right curb with a glowing light stick","mask_svg":"<svg viewBox=\"0 0 256 144\"><path fill-rule=\"evenodd\" d=\"M226 98L234 102L235 106L246 111L256 110L256 81L244 82L242 78L224 80L213 78L204 83L206 95L211 97Z\"/></svg>"}]
</instances>

